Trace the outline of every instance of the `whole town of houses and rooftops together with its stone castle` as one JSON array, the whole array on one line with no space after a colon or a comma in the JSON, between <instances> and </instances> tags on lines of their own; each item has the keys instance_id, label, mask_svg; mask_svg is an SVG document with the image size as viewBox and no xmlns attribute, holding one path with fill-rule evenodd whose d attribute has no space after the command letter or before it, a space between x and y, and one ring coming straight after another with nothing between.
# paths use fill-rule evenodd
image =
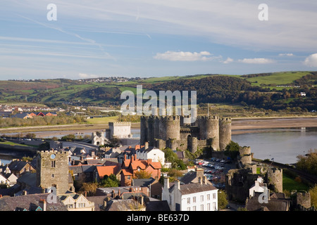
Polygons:
<instances>
[{"instance_id":1,"label":"whole town of houses and rooftops together with its stone castle","mask_svg":"<svg viewBox=\"0 0 317 225\"><path fill-rule=\"evenodd\" d=\"M142 116L139 138L109 122L2 163L0 211L316 211L309 192L284 193L286 165L232 150L230 118L184 119Z\"/></svg>"}]
</instances>

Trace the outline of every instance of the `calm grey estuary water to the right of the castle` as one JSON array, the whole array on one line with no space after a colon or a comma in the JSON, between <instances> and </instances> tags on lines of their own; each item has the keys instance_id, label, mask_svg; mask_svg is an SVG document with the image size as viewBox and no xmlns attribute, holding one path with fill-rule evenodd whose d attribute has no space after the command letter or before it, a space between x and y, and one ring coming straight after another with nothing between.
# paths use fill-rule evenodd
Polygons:
<instances>
[{"instance_id":1,"label":"calm grey estuary water to the right of the castle","mask_svg":"<svg viewBox=\"0 0 317 225\"><path fill-rule=\"evenodd\" d=\"M291 164L297 162L297 155L317 149L317 128L263 129L260 133L232 135L232 141L250 146L254 158Z\"/></svg>"}]
</instances>

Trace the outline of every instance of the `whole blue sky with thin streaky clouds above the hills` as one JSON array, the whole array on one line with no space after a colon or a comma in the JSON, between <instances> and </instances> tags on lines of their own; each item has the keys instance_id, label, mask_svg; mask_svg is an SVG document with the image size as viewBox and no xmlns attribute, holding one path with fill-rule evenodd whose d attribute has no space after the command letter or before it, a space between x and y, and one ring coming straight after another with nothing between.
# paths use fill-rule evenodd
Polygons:
<instances>
[{"instance_id":1,"label":"whole blue sky with thin streaky clouds above the hills","mask_svg":"<svg viewBox=\"0 0 317 225\"><path fill-rule=\"evenodd\" d=\"M306 0L2 0L0 79L317 70L316 11Z\"/></svg>"}]
</instances>

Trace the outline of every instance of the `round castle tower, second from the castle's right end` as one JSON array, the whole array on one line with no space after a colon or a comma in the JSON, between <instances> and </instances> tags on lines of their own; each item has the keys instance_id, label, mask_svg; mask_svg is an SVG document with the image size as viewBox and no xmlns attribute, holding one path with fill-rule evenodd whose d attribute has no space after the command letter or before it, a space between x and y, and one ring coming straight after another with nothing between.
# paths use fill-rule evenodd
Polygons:
<instances>
[{"instance_id":1,"label":"round castle tower, second from the castle's right end","mask_svg":"<svg viewBox=\"0 0 317 225\"><path fill-rule=\"evenodd\" d=\"M211 147L213 150L219 150L219 117L204 117L204 126L206 139L212 139Z\"/></svg>"}]
</instances>

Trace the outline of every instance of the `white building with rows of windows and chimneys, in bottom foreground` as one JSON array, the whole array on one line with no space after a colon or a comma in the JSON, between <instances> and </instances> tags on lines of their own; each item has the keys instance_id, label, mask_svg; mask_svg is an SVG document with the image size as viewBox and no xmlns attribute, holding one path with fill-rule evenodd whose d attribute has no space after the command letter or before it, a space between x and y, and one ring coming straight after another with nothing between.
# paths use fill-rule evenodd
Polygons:
<instances>
[{"instance_id":1,"label":"white building with rows of windows and chimneys, in bottom foreground","mask_svg":"<svg viewBox=\"0 0 317 225\"><path fill-rule=\"evenodd\" d=\"M196 184L175 181L173 186L165 178L162 200L167 200L171 211L217 211L218 189L207 183L206 176Z\"/></svg>"}]
</instances>

